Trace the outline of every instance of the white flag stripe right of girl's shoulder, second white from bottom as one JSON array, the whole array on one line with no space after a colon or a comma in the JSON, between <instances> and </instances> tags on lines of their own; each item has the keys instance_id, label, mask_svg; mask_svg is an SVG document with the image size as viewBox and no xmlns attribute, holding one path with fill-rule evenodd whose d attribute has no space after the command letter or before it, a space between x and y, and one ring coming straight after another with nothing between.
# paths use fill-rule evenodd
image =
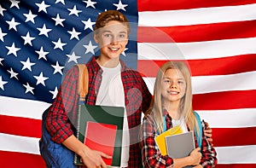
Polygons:
<instances>
[{"instance_id":1,"label":"white flag stripe right of girl's shoulder, second white from bottom","mask_svg":"<svg viewBox=\"0 0 256 168\"><path fill-rule=\"evenodd\" d=\"M212 128L256 127L256 108L230 110L196 110L201 119L205 119Z\"/></svg>"}]
</instances>

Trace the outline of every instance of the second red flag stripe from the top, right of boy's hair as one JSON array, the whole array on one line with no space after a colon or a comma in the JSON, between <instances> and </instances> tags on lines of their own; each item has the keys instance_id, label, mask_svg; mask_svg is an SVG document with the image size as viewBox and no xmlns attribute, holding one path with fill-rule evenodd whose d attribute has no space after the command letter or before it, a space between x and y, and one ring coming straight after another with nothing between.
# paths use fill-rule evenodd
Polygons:
<instances>
[{"instance_id":1,"label":"second red flag stripe from the top, right of boy's hair","mask_svg":"<svg viewBox=\"0 0 256 168\"><path fill-rule=\"evenodd\" d=\"M256 37L256 20L193 26L139 26L137 41L142 43L186 43Z\"/></svg>"}]
</instances>

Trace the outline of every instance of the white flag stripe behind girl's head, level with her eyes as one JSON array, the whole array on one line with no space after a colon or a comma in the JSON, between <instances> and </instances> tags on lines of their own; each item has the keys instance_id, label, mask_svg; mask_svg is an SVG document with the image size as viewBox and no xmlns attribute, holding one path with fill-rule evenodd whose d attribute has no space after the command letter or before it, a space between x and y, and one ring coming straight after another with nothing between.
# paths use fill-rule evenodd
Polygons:
<instances>
[{"instance_id":1,"label":"white flag stripe behind girl's head, level with her eyes","mask_svg":"<svg viewBox=\"0 0 256 168\"><path fill-rule=\"evenodd\" d=\"M234 68L234 67L230 67ZM143 78L148 90L153 94L155 78ZM203 94L230 90L256 90L256 72L231 75L192 77L193 94Z\"/></svg>"}]
</instances>

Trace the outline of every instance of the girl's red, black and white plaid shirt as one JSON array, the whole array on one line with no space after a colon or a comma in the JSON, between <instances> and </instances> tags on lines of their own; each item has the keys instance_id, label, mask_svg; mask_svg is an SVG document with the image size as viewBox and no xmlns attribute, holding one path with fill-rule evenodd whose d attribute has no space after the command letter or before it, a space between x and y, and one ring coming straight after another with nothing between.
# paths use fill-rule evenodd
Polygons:
<instances>
[{"instance_id":1,"label":"girl's red, black and white plaid shirt","mask_svg":"<svg viewBox=\"0 0 256 168\"><path fill-rule=\"evenodd\" d=\"M166 115L166 126L167 130L172 128L172 118L166 110L164 110L164 115ZM204 129L204 128L203 128ZM202 131L203 133L203 131ZM143 121L142 129L142 150L143 150L143 165L145 168L166 168L173 167L173 159L168 157L168 155L163 156L160 154L160 150L154 142L154 137L159 136L158 130L154 125L154 120L149 114ZM196 136L195 136L195 146L198 147ZM217 164L216 151L212 145L207 142L207 138L202 134L202 144L201 144L201 162L203 167L214 167Z\"/></svg>"}]
</instances>

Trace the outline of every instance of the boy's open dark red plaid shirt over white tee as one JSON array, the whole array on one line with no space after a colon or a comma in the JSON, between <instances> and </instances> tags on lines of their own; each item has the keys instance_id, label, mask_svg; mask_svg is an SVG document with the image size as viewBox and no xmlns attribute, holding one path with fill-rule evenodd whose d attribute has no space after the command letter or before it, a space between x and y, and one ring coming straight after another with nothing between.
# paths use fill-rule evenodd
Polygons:
<instances>
[{"instance_id":1,"label":"boy's open dark red plaid shirt over white tee","mask_svg":"<svg viewBox=\"0 0 256 168\"><path fill-rule=\"evenodd\" d=\"M130 158L129 167L136 168L142 163L141 150L139 149L138 130L141 124L141 114L148 109L151 94L144 83L140 73L125 66L121 62L121 78L125 90L125 108L130 129ZM86 64L89 72L89 92L86 103L96 104L97 91L102 81L102 68L96 63L96 58ZM61 143L73 134L75 124L74 114L79 104L78 95L79 70L73 67L67 72L58 95L49 110L46 127L52 140Z\"/></svg>"}]
</instances>

